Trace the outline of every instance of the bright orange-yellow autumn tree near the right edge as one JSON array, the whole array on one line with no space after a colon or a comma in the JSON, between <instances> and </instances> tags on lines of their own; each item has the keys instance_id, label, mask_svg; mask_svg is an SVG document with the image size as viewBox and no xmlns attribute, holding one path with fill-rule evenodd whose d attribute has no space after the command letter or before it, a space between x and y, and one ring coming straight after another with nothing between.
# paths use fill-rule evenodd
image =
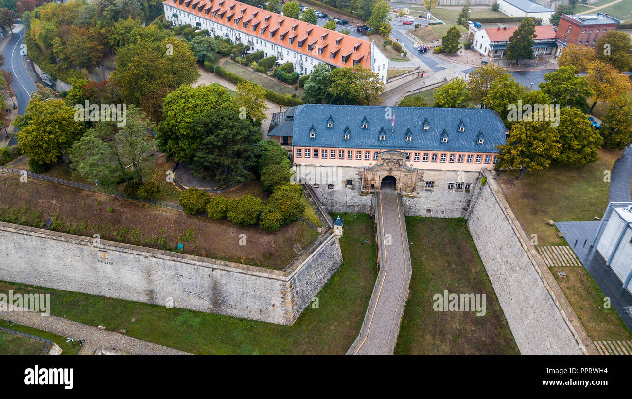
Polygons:
<instances>
[{"instance_id":1,"label":"bright orange-yellow autumn tree near the right edge","mask_svg":"<svg viewBox=\"0 0 632 399\"><path fill-rule=\"evenodd\" d=\"M629 93L632 86L626 75L617 71L611 64L595 60L588 65L588 84L595 93L592 112L597 101L610 102L621 94Z\"/></svg>"}]
</instances>

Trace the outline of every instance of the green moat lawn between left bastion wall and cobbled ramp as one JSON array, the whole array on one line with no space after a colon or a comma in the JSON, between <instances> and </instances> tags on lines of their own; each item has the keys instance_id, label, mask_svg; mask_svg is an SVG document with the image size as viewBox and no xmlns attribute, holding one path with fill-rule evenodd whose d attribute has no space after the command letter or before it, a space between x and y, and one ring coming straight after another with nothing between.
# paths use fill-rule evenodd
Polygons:
<instances>
[{"instance_id":1,"label":"green moat lawn between left bastion wall and cobbled ramp","mask_svg":"<svg viewBox=\"0 0 632 399\"><path fill-rule=\"evenodd\" d=\"M317 295L319 308L308 306L293 326L3 281L0 292L51 293L54 316L123 328L129 336L198 355L343 355L360 331L377 278L373 221L365 214L343 218L344 262Z\"/></svg>"}]
</instances>

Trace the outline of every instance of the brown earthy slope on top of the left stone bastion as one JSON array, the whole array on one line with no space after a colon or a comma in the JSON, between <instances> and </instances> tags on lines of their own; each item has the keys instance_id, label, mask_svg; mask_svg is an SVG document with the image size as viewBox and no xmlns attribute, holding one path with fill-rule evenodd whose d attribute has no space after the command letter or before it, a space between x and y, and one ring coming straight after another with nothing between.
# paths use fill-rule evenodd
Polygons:
<instances>
[{"instance_id":1,"label":"brown earthy slope on top of the left stone bastion","mask_svg":"<svg viewBox=\"0 0 632 399\"><path fill-rule=\"evenodd\" d=\"M252 188L255 183L248 184ZM54 220L51 230L90 237L99 233L102 240L164 250L183 243L186 254L276 269L294 259L296 243L305 249L318 235L302 222L269 232L47 181L20 183L18 175L0 174L0 220L42 227L49 217ZM239 245L241 233L245 246Z\"/></svg>"}]
</instances>

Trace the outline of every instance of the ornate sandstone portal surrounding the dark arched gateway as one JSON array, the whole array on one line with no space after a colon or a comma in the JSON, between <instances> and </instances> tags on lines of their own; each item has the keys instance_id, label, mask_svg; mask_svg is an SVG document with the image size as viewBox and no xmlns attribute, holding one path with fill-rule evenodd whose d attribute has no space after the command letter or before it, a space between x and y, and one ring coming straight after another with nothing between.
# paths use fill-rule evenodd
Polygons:
<instances>
[{"instance_id":1,"label":"ornate sandstone portal surrounding the dark arched gateway","mask_svg":"<svg viewBox=\"0 0 632 399\"><path fill-rule=\"evenodd\" d=\"M364 169L362 191L394 188L401 193L413 194L417 182L417 170L406 166L406 154L388 150L377 154L374 166Z\"/></svg>"}]
</instances>

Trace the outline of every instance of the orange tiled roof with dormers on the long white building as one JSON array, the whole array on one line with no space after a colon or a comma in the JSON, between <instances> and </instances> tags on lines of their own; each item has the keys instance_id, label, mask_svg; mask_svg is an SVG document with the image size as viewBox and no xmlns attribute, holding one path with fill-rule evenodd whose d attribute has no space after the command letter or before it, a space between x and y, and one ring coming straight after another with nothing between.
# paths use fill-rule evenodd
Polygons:
<instances>
[{"instance_id":1,"label":"orange tiled roof with dormers on the long white building","mask_svg":"<svg viewBox=\"0 0 632 399\"><path fill-rule=\"evenodd\" d=\"M288 18L234 0L166 0L162 3L187 11L206 20L221 23L221 25L224 26L228 25L230 28L243 32L246 35L274 42L274 44L298 51L302 54L308 54L310 57L319 59L325 63L334 64L336 66L353 66L353 62L351 62L352 58L347 59L347 62L343 63L340 55L341 51L337 52L334 59L330 58L330 51L323 51L322 54L318 54L319 48L329 47L330 49L336 48L342 50L344 54L355 53L356 55L353 59L362 59L360 64L363 67L371 67L370 42L366 40L358 41L356 37L333 32L332 30L304 21ZM227 18L229 21L226 21ZM296 34L290 33L281 40L281 36L283 36L287 29L283 29L282 32L279 32L279 26L290 27L290 29L293 28L290 32L296 32ZM262 33L262 29L267 27L272 28L266 29ZM270 37L270 33L274 33L272 37ZM334 33L336 34L334 35ZM294 40L292 44L289 44L289 39L292 39L297 34L301 35L300 39ZM323 36L325 36L324 39L322 38ZM553 37L555 37L555 32L553 33ZM311 40L307 40L307 43L303 43L303 47L298 47L298 43L303 42L305 39ZM311 45L315 42L320 42L319 46L313 47L312 51L308 51L307 45ZM331 44L331 46L327 46L328 44ZM357 49L355 49L356 46L358 46Z\"/></svg>"}]
</instances>

